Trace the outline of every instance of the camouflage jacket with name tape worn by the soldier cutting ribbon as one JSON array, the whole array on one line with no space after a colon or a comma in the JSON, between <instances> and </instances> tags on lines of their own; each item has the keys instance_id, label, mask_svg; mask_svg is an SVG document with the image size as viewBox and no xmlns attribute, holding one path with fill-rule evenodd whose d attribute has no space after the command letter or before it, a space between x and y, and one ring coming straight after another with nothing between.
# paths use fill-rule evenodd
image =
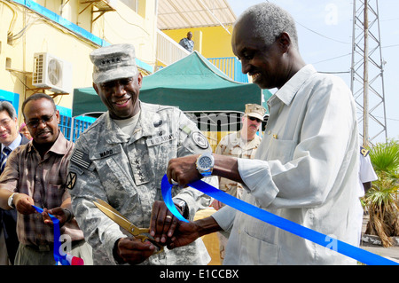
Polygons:
<instances>
[{"instance_id":1,"label":"camouflage jacket with name tape worn by the soldier cutting ribbon","mask_svg":"<svg viewBox=\"0 0 399 283\"><path fill-rule=\"evenodd\" d=\"M149 227L154 200L162 200L160 180L171 158L211 151L194 122L176 107L142 103L131 137L109 114L101 115L82 133L69 167L69 188L74 215L93 248L95 264L115 264L113 245L127 235L92 201L105 200L138 227ZM212 177L215 178L215 177ZM217 186L217 179L214 179ZM210 198L199 191L174 189L192 219ZM126 233L126 232L125 232ZM129 234L128 234L129 235ZM210 257L201 240L189 246L152 255L144 264L207 264Z\"/></svg>"}]
</instances>

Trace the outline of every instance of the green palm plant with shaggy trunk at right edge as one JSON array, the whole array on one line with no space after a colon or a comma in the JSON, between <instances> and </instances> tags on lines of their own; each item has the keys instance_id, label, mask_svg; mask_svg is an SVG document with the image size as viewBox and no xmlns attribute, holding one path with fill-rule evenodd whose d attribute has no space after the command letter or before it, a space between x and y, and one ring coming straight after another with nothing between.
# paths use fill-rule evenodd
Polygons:
<instances>
[{"instance_id":1,"label":"green palm plant with shaggy trunk at right edge","mask_svg":"<svg viewBox=\"0 0 399 283\"><path fill-rule=\"evenodd\" d=\"M373 146L370 158L379 179L364 196L370 215L365 233L378 235L383 247L390 247L390 237L399 236L399 142L390 140Z\"/></svg>"}]
</instances>

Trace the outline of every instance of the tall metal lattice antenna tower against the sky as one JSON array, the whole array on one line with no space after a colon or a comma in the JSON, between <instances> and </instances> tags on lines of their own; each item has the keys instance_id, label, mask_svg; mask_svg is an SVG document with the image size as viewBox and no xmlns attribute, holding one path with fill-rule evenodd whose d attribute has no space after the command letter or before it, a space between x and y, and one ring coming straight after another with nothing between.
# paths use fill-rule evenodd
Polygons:
<instances>
[{"instance_id":1,"label":"tall metal lattice antenna tower against the sky","mask_svg":"<svg viewBox=\"0 0 399 283\"><path fill-rule=\"evenodd\" d=\"M379 33L378 0L354 0L352 67L350 88L356 100L363 145L385 135L387 118L384 93L384 65Z\"/></svg>"}]
</instances>

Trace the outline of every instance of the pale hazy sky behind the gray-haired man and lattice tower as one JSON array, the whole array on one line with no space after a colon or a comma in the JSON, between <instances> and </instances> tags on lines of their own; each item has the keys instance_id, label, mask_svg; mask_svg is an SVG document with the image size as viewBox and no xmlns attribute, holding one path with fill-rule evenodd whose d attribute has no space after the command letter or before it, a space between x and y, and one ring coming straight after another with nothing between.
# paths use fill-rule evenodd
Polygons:
<instances>
[{"instance_id":1,"label":"pale hazy sky behind the gray-haired man and lattice tower","mask_svg":"<svg viewBox=\"0 0 399 283\"><path fill-rule=\"evenodd\" d=\"M357 7L360 1L356 0ZM246 8L262 3L260 0L228 0L231 9L237 17ZM353 0L270 0L286 9L296 22L299 37L299 48L302 59L312 64L319 72L333 73L340 76L350 88L352 66L352 37L353 37ZM362 1L363 2L363 1ZM373 10L377 13L376 0L370 0ZM380 59L385 62L382 77L379 68L369 63L369 80L372 87L382 97L385 93L385 110L387 118L387 138L399 139L399 1L382 0L378 2L378 21L371 27L372 35L380 36L381 55L378 45L369 40L372 59L378 64ZM371 21L376 16L370 14ZM363 37L358 37L363 28L356 27L356 42ZM379 30L379 32L378 32ZM363 48L363 46L362 46ZM356 62L361 59L356 55ZM370 67L371 65L371 67ZM380 64L379 64L380 65ZM359 69L360 67L360 69ZM362 75L363 67L356 65L356 73ZM363 92L359 83L354 84L356 101L363 106ZM275 91L275 90L274 90ZM273 92L273 90L272 90ZM369 112L376 120L369 118L369 137L372 144L385 142L385 133L379 133L384 124L384 107L382 98L369 90ZM363 132L362 108L358 107L359 129Z\"/></svg>"}]
</instances>

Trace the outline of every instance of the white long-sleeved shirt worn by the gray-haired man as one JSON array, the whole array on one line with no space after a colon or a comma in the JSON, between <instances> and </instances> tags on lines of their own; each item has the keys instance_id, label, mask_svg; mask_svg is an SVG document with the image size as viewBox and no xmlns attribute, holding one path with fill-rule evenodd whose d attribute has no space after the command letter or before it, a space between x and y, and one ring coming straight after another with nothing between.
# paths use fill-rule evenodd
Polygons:
<instances>
[{"instance_id":1,"label":"white long-sleeved shirt worn by the gray-haired man","mask_svg":"<svg viewBox=\"0 0 399 283\"><path fill-rule=\"evenodd\" d=\"M243 200L358 245L356 106L340 78L307 65L269 99L270 117L254 160L239 159ZM225 207L232 226L224 264L348 264L345 255ZM235 217L234 217L235 216ZM333 240L326 238L329 247Z\"/></svg>"}]
</instances>

